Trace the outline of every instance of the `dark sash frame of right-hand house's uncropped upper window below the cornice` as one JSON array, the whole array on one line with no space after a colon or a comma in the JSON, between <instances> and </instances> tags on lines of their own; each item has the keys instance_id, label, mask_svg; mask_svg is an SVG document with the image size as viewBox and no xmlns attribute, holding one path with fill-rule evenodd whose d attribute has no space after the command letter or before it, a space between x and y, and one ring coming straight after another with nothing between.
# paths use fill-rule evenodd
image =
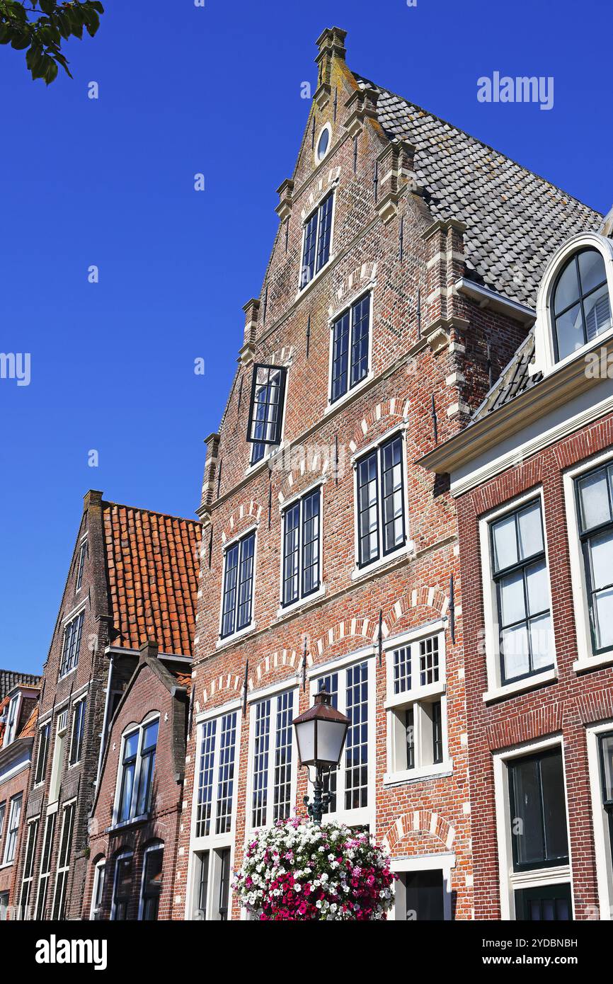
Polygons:
<instances>
[{"instance_id":1,"label":"dark sash frame of right-hand house's uncropped upper window below the cornice","mask_svg":"<svg viewBox=\"0 0 613 984\"><path fill-rule=\"evenodd\" d=\"M543 542L543 549L536 554L531 554L527 559L518 560L515 564L509 564L507 567L500 568L496 570L496 545L494 541L494 527L497 523L502 523L509 520L511 517L515 519L515 530L516 530L516 544L519 544L519 517L521 513L526 512L530 509L534 503L539 505L540 514L540 526L541 526L541 537ZM549 575L549 561L547 558L547 545L545 539L545 521L543 517L543 502L540 496L536 496L534 499L530 499L529 502L521 503L516 509L512 509L505 513L503 516L497 516L495 519L491 520L489 523L489 544L490 544L490 571L492 576L492 581L494 582L496 588L496 617L498 625L498 653L500 661L500 682L501 686L505 687L509 683L517 683L520 680L527 680L529 677L536 676L538 673L546 673L555 667L555 657L552 658L551 663L547 666L538 666L536 669L531 668L527 673L521 673L519 676L508 677L505 670L505 653L503 651L502 635L507 629L514 629L521 624L526 626L526 637L528 643L528 664L530 667L533 665L532 660L532 640L529 632L530 622L539 618L543 615L549 615L549 622L551 626L551 636L552 636L552 647L553 647L553 612L551 606L551 581ZM538 564L545 563L545 571L547 574L547 584L549 586L549 608L545 608L542 611L530 613L528 594L527 594L527 572L530 568L536 567ZM523 586L523 609L524 617L518 622L510 622L509 625L503 626L502 621L502 589L501 584L505 578L510 577L513 574L522 573L522 586Z\"/></svg>"}]
</instances>

